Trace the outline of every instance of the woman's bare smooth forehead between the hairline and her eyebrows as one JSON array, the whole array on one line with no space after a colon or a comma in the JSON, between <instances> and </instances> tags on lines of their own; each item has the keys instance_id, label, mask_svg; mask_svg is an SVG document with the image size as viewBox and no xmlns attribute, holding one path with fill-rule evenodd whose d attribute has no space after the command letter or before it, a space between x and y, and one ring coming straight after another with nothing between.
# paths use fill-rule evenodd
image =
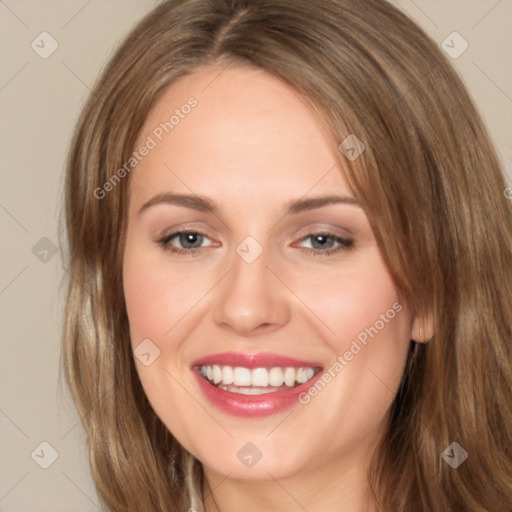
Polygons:
<instances>
[{"instance_id":1,"label":"woman's bare smooth forehead between the hairline and her eyebrows","mask_svg":"<svg viewBox=\"0 0 512 512\"><path fill-rule=\"evenodd\" d=\"M319 117L262 70L204 67L181 78L154 105L136 147L149 140L152 149L131 175L136 201L166 189L260 206L313 187L350 193Z\"/></svg>"}]
</instances>

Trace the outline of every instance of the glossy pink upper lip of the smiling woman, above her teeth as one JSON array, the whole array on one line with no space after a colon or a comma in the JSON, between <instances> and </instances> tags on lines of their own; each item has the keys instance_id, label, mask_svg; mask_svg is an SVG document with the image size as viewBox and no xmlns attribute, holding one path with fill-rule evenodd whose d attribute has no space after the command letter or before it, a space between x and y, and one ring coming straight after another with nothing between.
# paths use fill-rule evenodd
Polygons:
<instances>
[{"instance_id":1,"label":"glossy pink upper lip of the smiling woman, above her teeth","mask_svg":"<svg viewBox=\"0 0 512 512\"><path fill-rule=\"evenodd\" d=\"M321 368L322 365L316 361L306 361L293 357L281 356L270 352L258 354L242 354L238 352L223 352L212 354L197 359L192 363L194 366L242 366L244 368L272 368L274 366L293 368Z\"/></svg>"}]
</instances>

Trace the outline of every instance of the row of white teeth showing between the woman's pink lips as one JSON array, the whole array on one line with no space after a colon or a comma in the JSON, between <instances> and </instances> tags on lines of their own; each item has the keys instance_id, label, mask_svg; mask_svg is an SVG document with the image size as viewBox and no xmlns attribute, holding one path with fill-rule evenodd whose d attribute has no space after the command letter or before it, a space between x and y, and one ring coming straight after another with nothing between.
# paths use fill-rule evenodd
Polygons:
<instances>
[{"instance_id":1,"label":"row of white teeth showing between the woman's pink lips","mask_svg":"<svg viewBox=\"0 0 512 512\"><path fill-rule=\"evenodd\" d=\"M242 395L263 395L305 384L320 371L320 368L245 368L214 364L199 366L198 371L210 384L224 391Z\"/></svg>"}]
</instances>

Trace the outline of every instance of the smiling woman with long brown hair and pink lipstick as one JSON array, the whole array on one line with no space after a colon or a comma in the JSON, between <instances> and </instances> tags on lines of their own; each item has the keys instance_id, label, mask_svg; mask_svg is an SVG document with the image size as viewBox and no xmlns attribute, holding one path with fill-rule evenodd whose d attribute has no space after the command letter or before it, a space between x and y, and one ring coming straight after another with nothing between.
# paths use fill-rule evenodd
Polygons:
<instances>
[{"instance_id":1,"label":"smiling woman with long brown hair and pink lipstick","mask_svg":"<svg viewBox=\"0 0 512 512\"><path fill-rule=\"evenodd\" d=\"M69 156L67 382L115 511L512 509L512 215L381 0L167 1Z\"/></svg>"}]
</instances>

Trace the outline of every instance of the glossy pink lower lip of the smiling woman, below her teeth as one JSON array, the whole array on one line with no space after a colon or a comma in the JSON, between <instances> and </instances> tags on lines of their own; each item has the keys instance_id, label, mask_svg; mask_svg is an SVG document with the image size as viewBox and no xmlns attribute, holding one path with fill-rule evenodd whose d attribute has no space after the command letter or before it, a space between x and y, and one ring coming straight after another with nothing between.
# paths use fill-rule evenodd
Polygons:
<instances>
[{"instance_id":1,"label":"glossy pink lower lip of the smiling woman, below her teeth","mask_svg":"<svg viewBox=\"0 0 512 512\"><path fill-rule=\"evenodd\" d=\"M199 387L213 405L234 416L259 418L277 414L294 404L298 404L299 395L307 391L321 377L322 371L318 371L311 379L300 386L262 395L242 395L241 393L224 391L210 384L197 368L194 368L194 374L199 381Z\"/></svg>"}]
</instances>

